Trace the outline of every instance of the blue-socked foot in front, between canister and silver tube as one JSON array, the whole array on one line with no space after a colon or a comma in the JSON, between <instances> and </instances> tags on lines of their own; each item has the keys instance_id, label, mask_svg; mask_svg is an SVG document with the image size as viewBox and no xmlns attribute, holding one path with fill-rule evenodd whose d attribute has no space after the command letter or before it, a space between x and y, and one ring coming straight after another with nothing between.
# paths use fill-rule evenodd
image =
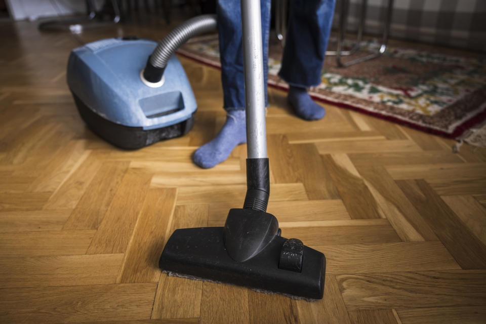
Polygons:
<instances>
[{"instance_id":1,"label":"blue-socked foot in front, between canister and silver tube","mask_svg":"<svg viewBox=\"0 0 486 324\"><path fill-rule=\"evenodd\" d=\"M196 165L208 169L226 160L236 145L247 142L245 110L232 110L218 135L199 147L192 156Z\"/></svg>"}]
</instances>

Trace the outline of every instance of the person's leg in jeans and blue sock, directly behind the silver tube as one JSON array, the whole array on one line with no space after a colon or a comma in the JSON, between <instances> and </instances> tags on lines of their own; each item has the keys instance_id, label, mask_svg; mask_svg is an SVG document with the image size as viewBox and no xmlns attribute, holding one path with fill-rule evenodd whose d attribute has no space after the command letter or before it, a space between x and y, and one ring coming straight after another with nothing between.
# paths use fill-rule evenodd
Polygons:
<instances>
[{"instance_id":1,"label":"person's leg in jeans and blue sock, directly behind the silver tube","mask_svg":"<svg viewBox=\"0 0 486 324\"><path fill-rule=\"evenodd\" d=\"M261 8L265 102L267 102L270 0L261 0ZM235 146L247 142L243 48L241 43L241 7L239 0L218 0L217 13L221 82L224 99L223 108L226 110L227 116L226 123L218 135L194 152L194 163L205 169L220 164L228 158Z\"/></svg>"}]
</instances>

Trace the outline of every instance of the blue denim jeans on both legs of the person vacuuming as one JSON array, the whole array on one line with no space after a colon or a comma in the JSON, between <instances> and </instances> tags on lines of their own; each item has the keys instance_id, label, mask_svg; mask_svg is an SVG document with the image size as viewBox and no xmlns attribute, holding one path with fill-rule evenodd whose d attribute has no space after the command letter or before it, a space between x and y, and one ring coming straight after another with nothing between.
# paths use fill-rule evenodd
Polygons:
<instances>
[{"instance_id":1,"label":"blue denim jeans on both legs of the person vacuuming","mask_svg":"<svg viewBox=\"0 0 486 324\"><path fill-rule=\"evenodd\" d=\"M277 0L279 1L279 0ZM260 0L262 10L265 103L268 105L268 34L270 0ZM278 75L288 84L308 88L320 84L334 15L335 0L291 0L289 27ZM221 80L226 111L245 109L241 8L239 0L218 0Z\"/></svg>"}]
</instances>

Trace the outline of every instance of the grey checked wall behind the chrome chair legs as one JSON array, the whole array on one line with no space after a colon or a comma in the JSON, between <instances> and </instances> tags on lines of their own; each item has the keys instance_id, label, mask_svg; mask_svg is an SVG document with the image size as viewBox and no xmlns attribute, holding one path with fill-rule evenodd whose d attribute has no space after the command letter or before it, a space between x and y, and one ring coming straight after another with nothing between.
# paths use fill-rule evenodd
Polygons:
<instances>
[{"instance_id":1,"label":"grey checked wall behind the chrome chair legs","mask_svg":"<svg viewBox=\"0 0 486 324\"><path fill-rule=\"evenodd\" d=\"M337 11L339 3L337 0ZM388 0L368 0L367 32L381 32L387 3ZM356 30L360 4L361 0L350 0L349 30ZM395 0L390 34L395 38L486 51L486 0Z\"/></svg>"}]
</instances>

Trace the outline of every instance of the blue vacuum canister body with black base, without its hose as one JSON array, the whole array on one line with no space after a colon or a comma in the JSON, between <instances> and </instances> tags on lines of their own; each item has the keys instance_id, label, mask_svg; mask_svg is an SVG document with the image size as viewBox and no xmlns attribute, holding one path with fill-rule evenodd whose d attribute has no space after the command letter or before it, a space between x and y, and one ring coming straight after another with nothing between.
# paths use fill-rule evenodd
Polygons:
<instances>
[{"instance_id":1,"label":"blue vacuum canister body with black base, without its hose","mask_svg":"<svg viewBox=\"0 0 486 324\"><path fill-rule=\"evenodd\" d=\"M91 130L120 148L141 148L192 128L197 104L177 57L170 57L160 82L141 77L156 46L135 37L109 38L69 56L67 84L80 115Z\"/></svg>"}]
</instances>

